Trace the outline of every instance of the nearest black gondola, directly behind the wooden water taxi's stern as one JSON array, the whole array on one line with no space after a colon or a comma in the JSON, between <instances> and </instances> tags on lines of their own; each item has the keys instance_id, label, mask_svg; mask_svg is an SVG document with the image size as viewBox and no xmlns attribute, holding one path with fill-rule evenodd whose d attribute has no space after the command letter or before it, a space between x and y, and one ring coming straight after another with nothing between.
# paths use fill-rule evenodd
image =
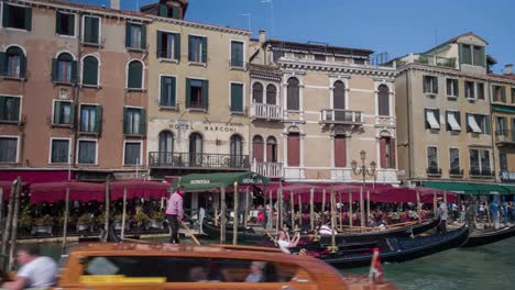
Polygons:
<instances>
[{"instance_id":1,"label":"nearest black gondola, directly behind the wooden water taxi's stern","mask_svg":"<svg viewBox=\"0 0 515 290\"><path fill-rule=\"evenodd\" d=\"M464 224L458 230L428 236L387 237L377 242L376 247L380 248L380 258L383 263L402 263L462 246L468 237L469 225ZM324 249L315 255L335 267L352 268L370 266L372 250L370 245L366 245L362 248L339 247L336 253Z\"/></svg>"}]
</instances>

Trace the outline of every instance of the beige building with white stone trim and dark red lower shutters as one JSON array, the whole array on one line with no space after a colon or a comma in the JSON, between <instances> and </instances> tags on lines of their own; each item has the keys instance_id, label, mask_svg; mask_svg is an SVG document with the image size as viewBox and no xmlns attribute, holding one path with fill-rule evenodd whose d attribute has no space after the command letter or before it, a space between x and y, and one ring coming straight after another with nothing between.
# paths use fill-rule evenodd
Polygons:
<instances>
[{"instance_id":1,"label":"beige building with white stone trim and dark red lower shutters","mask_svg":"<svg viewBox=\"0 0 515 290\"><path fill-rule=\"evenodd\" d=\"M251 44L253 169L302 181L361 181L351 161L376 164L369 182L397 182L395 68L372 52L266 40Z\"/></svg>"}]
</instances>

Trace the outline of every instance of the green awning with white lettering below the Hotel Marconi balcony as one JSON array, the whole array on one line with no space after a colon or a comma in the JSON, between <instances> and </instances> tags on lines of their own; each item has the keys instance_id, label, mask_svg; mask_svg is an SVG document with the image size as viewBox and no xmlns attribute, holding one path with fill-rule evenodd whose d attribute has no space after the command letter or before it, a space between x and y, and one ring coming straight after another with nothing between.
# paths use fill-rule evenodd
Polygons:
<instances>
[{"instance_id":1,"label":"green awning with white lettering below the Hotel Marconi balcony","mask_svg":"<svg viewBox=\"0 0 515 290\"><path fill-rule=\"evenodd\" d=\"M185 191L205 191L216 188L228 188L238 182L241 186L264 186L270 179L248 171L229 174L202 174L186 175L180 178L180 185Z\"/></svg>"}]
</instances>

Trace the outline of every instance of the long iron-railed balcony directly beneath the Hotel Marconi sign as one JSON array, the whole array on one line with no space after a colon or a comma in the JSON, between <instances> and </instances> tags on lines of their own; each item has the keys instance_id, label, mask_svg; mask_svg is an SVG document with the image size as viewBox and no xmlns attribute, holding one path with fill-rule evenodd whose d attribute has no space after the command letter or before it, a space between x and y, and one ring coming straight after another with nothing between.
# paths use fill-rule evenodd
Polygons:
<instances>
[{"instance_id":1,"label":"long iron-railed balcony directly beneath the Hotel Marconi sign","mask_svg":"<svg viewBox=\"0 0 515 290\"><path fill-rule=\"evenodd\" d=\"M249 155L149 153L149 167L249 170Z\"/></svg>"}]
</instances>

